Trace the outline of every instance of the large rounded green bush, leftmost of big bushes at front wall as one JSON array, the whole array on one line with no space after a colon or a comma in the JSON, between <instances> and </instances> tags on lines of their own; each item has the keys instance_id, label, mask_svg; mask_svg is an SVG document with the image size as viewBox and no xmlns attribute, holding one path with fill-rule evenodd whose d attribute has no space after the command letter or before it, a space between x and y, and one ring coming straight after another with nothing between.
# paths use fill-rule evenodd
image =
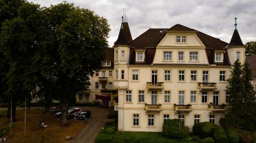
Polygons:
<instances>
[{"instance_id":1,"label":"large rounded green bush, leftmost of big bushes at front wall","mask_svg":"<svg viewBox=\"0 0 256 143\"><path fill-rule=\"evenodd\" d=\"M179 130L180 123L180 130ZM165 136L171 138L185 138L188 136L188 132L185 130L184 124L182 124L178 119L166 120L163 123L163 131L162 133Z\"/></svg>"}]
</instances>

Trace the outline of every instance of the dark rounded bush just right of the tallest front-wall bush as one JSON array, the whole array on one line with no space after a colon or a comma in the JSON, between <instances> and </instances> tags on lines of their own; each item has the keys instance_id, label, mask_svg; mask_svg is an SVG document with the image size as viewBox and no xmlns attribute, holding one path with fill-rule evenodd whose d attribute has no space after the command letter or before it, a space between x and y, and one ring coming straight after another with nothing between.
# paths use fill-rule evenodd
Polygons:
<instances>
[{"instance_id":1,"label":"dark rounded bush just right of the tallest front-wall bush","mask_svg":"<svg viewBox=\"0 0 256 143\"><path fill-rule=\"evenodd\" d=\"M197 123L193 126L193 134L201 138L213 137L214 131L219 127L220 126L209 122Z\"/></svg>"}]
</instances>

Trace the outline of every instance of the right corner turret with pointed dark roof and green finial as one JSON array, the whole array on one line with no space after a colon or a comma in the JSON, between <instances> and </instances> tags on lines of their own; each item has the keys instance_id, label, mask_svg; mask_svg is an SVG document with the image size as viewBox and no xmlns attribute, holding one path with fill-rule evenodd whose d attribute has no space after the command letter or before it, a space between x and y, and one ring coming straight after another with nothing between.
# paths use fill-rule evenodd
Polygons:
<instances>
[{"instance_id":1,"label":"right corner turret with pointed dark roof and green finial","mask_svg":"<svg viewBox=\"0 0 256 143\"><path fill-rule=\"evenodd\" d=\"M235 28L230 43L227 47L227 52L231 64L233 64L236 60L239 60L243 64L245 62L245 46L237 30L237 17L234 19Z\"/></svg>"}]
</instances>

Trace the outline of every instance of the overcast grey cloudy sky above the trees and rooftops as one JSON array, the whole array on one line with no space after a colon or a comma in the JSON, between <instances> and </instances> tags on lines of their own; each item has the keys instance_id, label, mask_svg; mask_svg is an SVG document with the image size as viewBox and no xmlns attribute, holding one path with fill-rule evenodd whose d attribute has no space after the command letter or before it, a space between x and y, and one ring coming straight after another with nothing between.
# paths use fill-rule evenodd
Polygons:
<instances>
[{"instance_id":1,"label":"overcast grey cloudy sky above the trees and rooftops","mask_svg":"<svg viewBox=\"0 0 256 143\"><path fill-rule=\"evenodd\" d=\"M61 3L62 0L29 0L29 2L49 7ZM229 43L234 30L234 17L237 17L237 29L243 43L256 41L255 0L67 0L67 2L90 9L108 19L111 27L108 39L110 46L113 46L117 40L123 9L133 39L148 28L169 28L179 23Z\"/></svg>"}]
</instances>

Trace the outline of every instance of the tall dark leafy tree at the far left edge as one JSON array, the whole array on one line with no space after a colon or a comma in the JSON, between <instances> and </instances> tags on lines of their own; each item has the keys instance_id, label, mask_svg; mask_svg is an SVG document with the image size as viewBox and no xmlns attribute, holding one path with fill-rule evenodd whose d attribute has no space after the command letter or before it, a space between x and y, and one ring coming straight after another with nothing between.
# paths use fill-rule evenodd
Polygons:
<instances>
[{"instance_id":1,"label":"tall dark leafy tree at the far left edge","mask_svg":"<svg viewBox=\"0 0 256 143\"><path fill-rule=\"evenodd\" d=\"M35 63L36 56L34 54L37 47L36 29L40 24L39 6L26 1L22 2L23 4L16 8L17 17L6 19L2 23L0 35L3 61L9 67L4 77L8 86L4 94L12 99L13 121L16 120L16 103L24 101L25 95L29 99L30 92L35 88L37 79L35 73L38 73L32 65Z\"/></svg>"}]
</instances>

